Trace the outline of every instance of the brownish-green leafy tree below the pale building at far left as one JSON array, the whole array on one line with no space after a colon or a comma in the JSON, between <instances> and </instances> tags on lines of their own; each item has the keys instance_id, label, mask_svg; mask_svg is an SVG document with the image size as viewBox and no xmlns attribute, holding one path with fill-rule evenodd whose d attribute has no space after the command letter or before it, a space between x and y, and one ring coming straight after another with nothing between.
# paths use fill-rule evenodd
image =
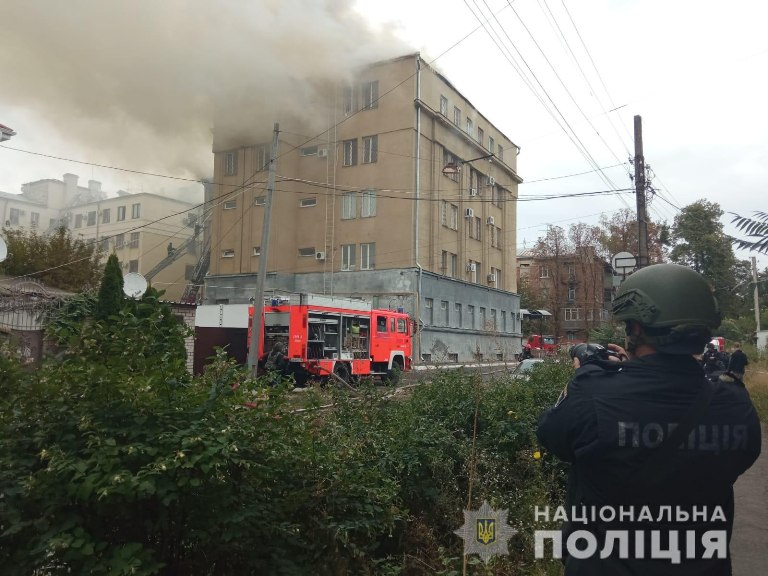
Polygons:
<instances>
[{"instance_id":1,"label":"brownish-green leafy tree below the pale building at far left","mask_svg":"<svg viewBox=\"0 0 768 576\"><path fill-rule=\"evenodd\" d=\"M101 276L98 243L76 240L64 226L49 235L10 229L4 229L3 234L8 258L0 263L0 273L34 275L48 286L73 292L95 288Z\"/></svg>"}]
</instances>

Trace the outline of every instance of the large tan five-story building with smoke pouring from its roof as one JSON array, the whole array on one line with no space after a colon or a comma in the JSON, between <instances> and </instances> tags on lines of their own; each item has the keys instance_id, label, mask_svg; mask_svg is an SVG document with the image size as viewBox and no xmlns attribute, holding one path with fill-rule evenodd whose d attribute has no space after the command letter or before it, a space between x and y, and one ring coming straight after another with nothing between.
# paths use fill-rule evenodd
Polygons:
<instances>
[{"instance_id":1,"label":"large tan five-story building with smoke pouring from its roof","mask_svg":"<svg viewBox=\"0 0 768 576\"><path fill-rule=\"evenodd\" d=\"M326 96L312 114L322 133L281 126L267 289L404 308L420 326L417 361L518 351L518 146L418 54L360 70ZM254 297L265 128L238 146L215 132L208 304Z\"/></svg>"}]
</instances>

